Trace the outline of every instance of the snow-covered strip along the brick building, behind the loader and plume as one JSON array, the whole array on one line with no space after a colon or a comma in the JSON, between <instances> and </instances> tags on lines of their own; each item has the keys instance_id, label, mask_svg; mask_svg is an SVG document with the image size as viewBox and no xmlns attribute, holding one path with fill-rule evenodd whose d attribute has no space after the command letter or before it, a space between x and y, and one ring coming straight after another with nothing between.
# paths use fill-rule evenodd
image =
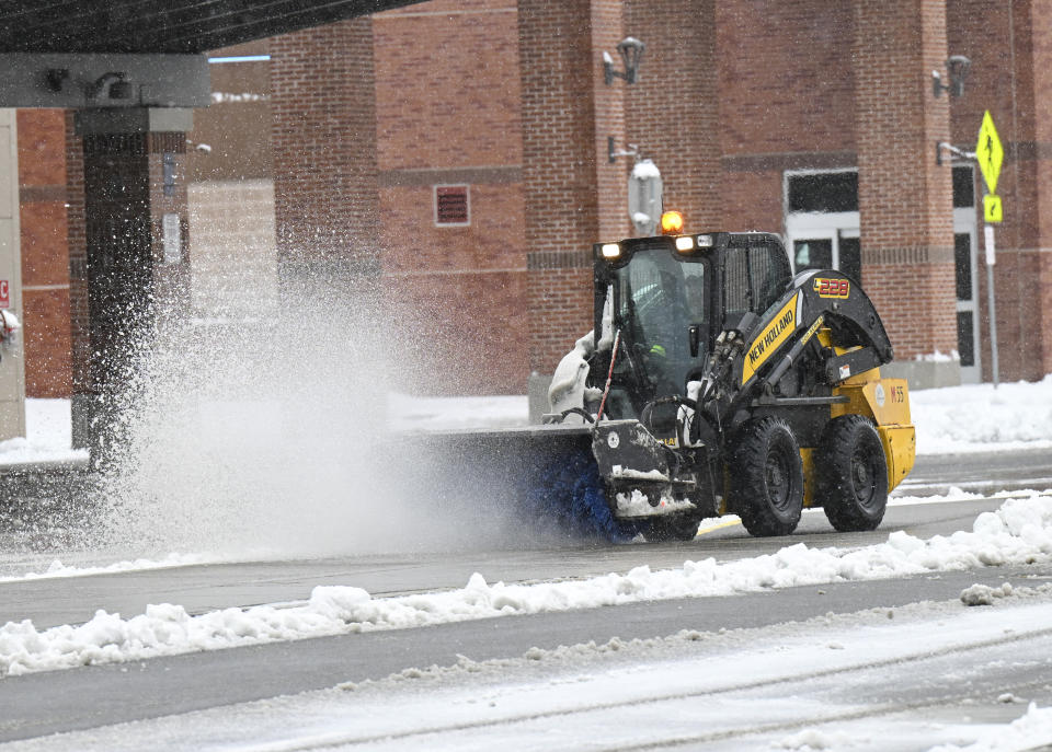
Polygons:
<instances>
[{"instance_id":1,"label":"snow-covered strip along the brick building, behind the loader and plume","mask_svg":"<svg viewBox=\"0 0 1052 752\"><path fill-rule=\"evenodd\" d=\"M911 392L919 454L1052 449L1052 374L1037 383L973 384ZM416 397L391 394L398 429L526 425L525 396ZM27 400L26 438L0 441L0 465L85 460L70 449L68 400Z\"/></svg>"}]
</instances>

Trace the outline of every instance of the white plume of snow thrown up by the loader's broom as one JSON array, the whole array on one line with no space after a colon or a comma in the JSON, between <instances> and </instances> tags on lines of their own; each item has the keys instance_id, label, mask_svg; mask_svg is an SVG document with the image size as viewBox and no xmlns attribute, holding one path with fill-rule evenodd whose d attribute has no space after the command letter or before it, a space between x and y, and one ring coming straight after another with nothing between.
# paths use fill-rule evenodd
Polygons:
<instances>
[{"instance_id":1,"label":"white plume of snow thrown up by the loader's broom","mask_svg":"<svg viewBox=\"0 0 1052 752\"><path fill-rule=\"evenodd\" d=\"M248 321L158 316L103 468L107 544L219 558L442 545L453 522L388 484L386 395L413 347L374 282L358 285Z\"/></svg>"}]
</instances>

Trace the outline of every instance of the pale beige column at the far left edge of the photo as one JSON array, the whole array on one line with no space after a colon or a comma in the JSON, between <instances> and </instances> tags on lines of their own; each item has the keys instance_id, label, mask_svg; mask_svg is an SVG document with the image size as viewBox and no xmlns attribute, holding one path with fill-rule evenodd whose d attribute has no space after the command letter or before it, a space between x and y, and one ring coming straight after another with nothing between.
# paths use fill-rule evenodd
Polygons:
<instances>
[{"instance_id":1,"label":"pale beige column at the far left edge of the photo","mask_svg":"<svg viewBox=\"0 0 1052 752\"><path fill-rule=\"evenodd\" d=\"M0 308L21 321L22 253L19 225L18 122L0 109ZM0 441L25 436L25 367L22 333L0 345Z\"/></svg>"}]
</instances>

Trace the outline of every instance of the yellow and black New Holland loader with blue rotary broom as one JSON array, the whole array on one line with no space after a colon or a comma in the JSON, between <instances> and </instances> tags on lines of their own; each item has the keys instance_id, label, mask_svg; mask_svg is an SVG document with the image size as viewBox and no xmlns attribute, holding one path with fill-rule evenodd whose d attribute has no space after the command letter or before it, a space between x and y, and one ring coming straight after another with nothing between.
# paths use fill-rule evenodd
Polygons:
<instances>
[{"instance_id":1,"label":"yellow and black New Holland loader with blue rotary broom","mask_svg":"<svg viewBox=\"0 0 1052 752\"><path fill-rule=\"evenodd\" d=\"M662 227L593 247L594 329L556 371L549 425L446 436L441 461L473 467L451 493L610 541L689 540L727 513L787 535L807 507L877 528L914 428L857 280L793 276L775 234Z\"/></svg>"}]
</instances>

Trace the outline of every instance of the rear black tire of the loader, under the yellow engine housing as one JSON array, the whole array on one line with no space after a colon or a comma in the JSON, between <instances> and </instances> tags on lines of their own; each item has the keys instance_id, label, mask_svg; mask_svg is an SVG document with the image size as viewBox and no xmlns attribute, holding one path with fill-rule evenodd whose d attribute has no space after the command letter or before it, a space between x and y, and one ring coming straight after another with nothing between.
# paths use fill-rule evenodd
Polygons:
<instances>
[{"instance_id":1,"label":"rear black tire of the loader, under the yellow engine housing","mask_svg":"<svg viewBox=\"0 0 1052 752\"><path fill-rule=\"evenodd\" d=\"M861 415L830 421L814 453L815 499L841 532L874 530L888 507L888 461L873 424Z\"/></svg>"}]
</instances>

